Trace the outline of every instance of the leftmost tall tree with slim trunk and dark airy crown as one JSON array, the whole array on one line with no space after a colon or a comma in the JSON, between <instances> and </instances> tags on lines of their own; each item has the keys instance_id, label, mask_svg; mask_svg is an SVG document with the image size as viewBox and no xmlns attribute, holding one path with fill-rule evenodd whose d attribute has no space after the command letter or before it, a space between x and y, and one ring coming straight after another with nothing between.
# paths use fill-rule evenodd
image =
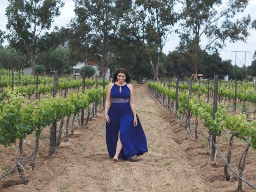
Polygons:
<instances>
[{"instance_id":1,"label":"leftmost tall tree with slim trunk and dark airy crown","mask_svg":"<svg viewBox=\"0 0 256 192\"><path fill-rule=\"evenodd\" d=\"M64 6L61 0L8 0L6 16L8 39L12 47L32 56L35 74L38 39L49 30Z\"/></svg>"}]
</instances>

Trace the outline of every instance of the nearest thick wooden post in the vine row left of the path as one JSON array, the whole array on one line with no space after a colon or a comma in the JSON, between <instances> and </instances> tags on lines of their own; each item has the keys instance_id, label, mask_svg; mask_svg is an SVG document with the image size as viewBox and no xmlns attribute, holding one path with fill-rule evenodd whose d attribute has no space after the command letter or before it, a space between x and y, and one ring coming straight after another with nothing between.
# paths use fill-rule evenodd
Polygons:
<instances>
[{"instance_id":1,"label":"nearest thick wooden post in the vine row left of the path","mask_svg":"<svg viewBox=\"0 0 256 192\"><path fill-rule=\"evenodd\" d=\"M54 71L54 78L53 78L53 98L56 97L58 92L58 70ZM51 156L54 151L56 150L56 133L57 133L57 120L55 119L52 122L52 127L50 130L50 150L49 150L49 156Z\"/></svg>"}]
</instances>

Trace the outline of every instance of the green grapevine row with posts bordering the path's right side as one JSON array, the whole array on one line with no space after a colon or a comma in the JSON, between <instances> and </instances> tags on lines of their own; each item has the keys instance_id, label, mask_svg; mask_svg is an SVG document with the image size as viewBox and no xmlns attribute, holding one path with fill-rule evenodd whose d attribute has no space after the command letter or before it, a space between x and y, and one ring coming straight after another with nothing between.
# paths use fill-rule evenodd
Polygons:
<instances>
[{"instance_id":1,"label":"green grapevine row with posts bordering the path's right side","mask_svg":"<svg viewBox=\"0 0 256 192\"><path fill-rule=\"evenodd\" d=\"M216 84L216 83L215 83ZM230 132L232 136L230 137L230 146L228 147L228 157L227 164L230 163L232 156L232 143L234 137L245 140L247 146L242 153L239 162L239 183L238 189L242 189L242 175L245 166L246 154L250 146L255 150L256 149L256 120L247 120L245 114L227 114L227 110L224 105L216 102L216 107L212 103L206 103L206 98L202 95L200 98L196 98L192 94L192 79L189 84L189 90L184 88L183 92L179 92L179 84L176 83L176 89L171 88L171 86L164 86L160 82L148 82L148 88L153 92L154 96L160 101L164 106L168 106L168 109L175 114L177 118L186 119L186 130L190 134L190 118L194 115L195 118L195 139L198 139L198 116L201 120L204 121L204 126L209 129L208 144L207 144L207 154L210 154L210 141L216 144L216 136L220 136L221 133L225 130ZM181 88L182 89L182 88ZM218 95L218 82L213 88L215 91L214 98L217 98ZM217 101L217 99L215 99ZM175 104L175 105L174 105ZM180 115L181 114L181 115ZM185 118L186 115L186 118ZM182 122L182 120L181 120ZM216 164L216 148L212 145L212 160ZM230 180L230 175L228 174L227 164L224 167L224 174L226 180ZM252 185L251 185L252 186ZM256 187L253 186L255 189Z\"/></svg>"}]
</instances>

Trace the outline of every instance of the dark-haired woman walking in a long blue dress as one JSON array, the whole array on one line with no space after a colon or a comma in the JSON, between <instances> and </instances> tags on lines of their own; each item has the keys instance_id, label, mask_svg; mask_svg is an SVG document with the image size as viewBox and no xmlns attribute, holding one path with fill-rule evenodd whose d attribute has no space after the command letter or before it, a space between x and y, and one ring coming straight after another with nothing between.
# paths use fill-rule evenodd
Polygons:
<instances>
[{"instance_id":1,"label":"dark-haired woman walking in a long blue dress","mask_svg":"<svg viewBox=\"0 0 256 192\"><path fill-rule=\"evenodd\" d=\"M112 77L105 103L106 143L110 158L118 162L118 158L130 159L134 155L143 155L148 148L136 115L130 74L124 68L119 68Z\"/></svg>"}]
</instances>

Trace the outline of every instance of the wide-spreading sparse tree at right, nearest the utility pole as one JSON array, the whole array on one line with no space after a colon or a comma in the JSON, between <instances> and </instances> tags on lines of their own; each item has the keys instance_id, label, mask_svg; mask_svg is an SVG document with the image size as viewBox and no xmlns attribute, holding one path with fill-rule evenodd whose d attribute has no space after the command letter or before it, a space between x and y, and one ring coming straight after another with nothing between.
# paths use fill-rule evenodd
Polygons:
<instances>
[{"instance_id":1,"label":"wide-spreading sparse tree at right, nearest the utility pole","mask_svg":"<svg viewBox=\"0 0 256 192\"><path fill-rule=\"evenodd\" d=\"M249 0L186 0L183 2L180 47L190 51L197 79L198 62L208 52L223 48L227 41L246 41L250 15L236 18Z\"/></svg>"}]
</instances>

